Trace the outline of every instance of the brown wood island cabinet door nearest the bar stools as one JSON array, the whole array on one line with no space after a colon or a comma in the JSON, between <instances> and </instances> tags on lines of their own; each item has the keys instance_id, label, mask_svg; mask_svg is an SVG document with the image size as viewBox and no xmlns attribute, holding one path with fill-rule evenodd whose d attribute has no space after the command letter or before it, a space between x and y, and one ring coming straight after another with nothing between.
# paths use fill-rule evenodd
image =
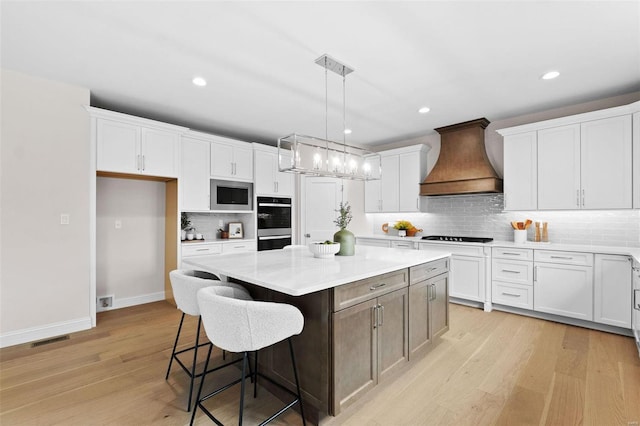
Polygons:
<instances>
[{"instance_id":1,"label":"brown wood island cabinet door nearest the bar stools","mask_svg":"<svg viewBox=\"0 0 640 426\"><path fill-rule=\"evenodd\" d=\"M333 314L333 414L356 402L378 380L377 299Z\"/></svg>"}]
</instances>

